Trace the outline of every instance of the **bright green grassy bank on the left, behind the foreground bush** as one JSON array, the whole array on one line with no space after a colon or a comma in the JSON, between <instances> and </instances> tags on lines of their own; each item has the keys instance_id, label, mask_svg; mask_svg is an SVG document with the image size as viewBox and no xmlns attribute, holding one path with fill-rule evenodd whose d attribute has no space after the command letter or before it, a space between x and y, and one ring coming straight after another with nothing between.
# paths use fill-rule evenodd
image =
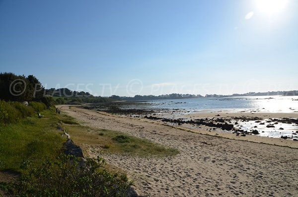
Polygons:
<instances>
[{"instance_id":1,"label":"bright green grassy bank on the left, behind the foreground bush","mask_svg":"<svg viewBox=\"0 0 298 197\"><path fill-rule=\"evenodd\" d=\"M21 171L20 166L28 161L40 163L45 158L55 158L65 139L57 130L59 116L54 110L19 120L15 124L0 127L0 170Z\"/></svg>"}]
</instances>

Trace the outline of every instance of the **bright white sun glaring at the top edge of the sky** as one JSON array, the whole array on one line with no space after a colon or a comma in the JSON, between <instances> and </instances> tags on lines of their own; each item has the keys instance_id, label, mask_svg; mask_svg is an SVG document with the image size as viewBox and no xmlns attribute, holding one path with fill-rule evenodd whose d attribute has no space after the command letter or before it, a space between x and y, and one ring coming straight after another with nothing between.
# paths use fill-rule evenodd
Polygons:
<instances>
[{"instance_id":1,"label":"bright white sun glaring at the top edge of the sky","mask_svg":"<svg viewBox=\"0 0 298 197\"><path fill-rule=\"evenodd\" d=\"M255 0L258 9L268 15L281 12L288 4L288 0Z\"/></svg>"}]
</instances>

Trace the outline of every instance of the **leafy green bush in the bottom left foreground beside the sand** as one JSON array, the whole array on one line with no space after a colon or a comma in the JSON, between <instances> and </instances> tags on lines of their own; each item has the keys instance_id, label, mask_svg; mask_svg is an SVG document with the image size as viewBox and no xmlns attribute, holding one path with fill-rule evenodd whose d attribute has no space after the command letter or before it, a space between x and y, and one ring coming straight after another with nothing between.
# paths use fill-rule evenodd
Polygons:
<instances>
[{"instance_id":1,"label":"leafy green bush in the bottom left foreground beside the sand","mask_svg":"<svg viewBox=\"0 0 298 197\"><path fill-rule=\"evenodd\" d=\"M102 169L104 159L61 155L28 171L16 183L0 183L0 190L14 197L121 197L132 185L125 175Z\"/></svg>"}]
</instances>

